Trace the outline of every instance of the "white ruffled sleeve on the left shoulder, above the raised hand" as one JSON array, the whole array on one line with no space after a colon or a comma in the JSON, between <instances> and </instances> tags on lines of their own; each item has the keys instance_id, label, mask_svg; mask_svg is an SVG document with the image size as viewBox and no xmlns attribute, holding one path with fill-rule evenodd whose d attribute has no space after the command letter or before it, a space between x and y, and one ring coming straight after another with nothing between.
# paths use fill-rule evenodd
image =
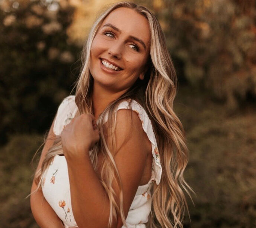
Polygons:
<instances>
[{"instance_id":1,"label":"white ruffled sleeve on the left shoulder, above the raised hand","mask_svg":"<svg viewBox=\"0 0 256 228\"><path fill-rule=\"evenodd\" d=\"M65 97L58 107L57 115L54 121L53 132L55 135L61 134L64 126L70 122L76 115L78 110L75 96L70 95Z\"/></svg>"}]
</instances>

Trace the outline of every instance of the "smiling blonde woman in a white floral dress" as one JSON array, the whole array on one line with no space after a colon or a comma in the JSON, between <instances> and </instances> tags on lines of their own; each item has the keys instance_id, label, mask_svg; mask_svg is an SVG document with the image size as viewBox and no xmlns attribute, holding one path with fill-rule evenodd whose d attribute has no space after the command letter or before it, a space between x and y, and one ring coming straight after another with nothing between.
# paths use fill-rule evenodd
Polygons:
<instances>
[{"instance_id":1,"label":"smiling blonde woman in a white floral dress","mask_svg":"<svg viewBox=\"0 0 256 228\"><path fill-rule=\"evenodd\" d=\"M64 98L31 189L42 228L183 227L185 133L177 78L145 7L119 2L96 20L76 94ZM190 196L190 195L189 195Z\"/></svg>"}]
</instances>

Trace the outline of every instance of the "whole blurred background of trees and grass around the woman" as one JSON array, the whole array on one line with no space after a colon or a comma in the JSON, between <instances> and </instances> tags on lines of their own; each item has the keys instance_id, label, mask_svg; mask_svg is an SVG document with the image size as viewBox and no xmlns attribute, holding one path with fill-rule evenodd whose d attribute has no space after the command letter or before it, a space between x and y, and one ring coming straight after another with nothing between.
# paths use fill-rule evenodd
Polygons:
<instances>
[{"instance_id":1,"label":"whole blurred background of trees and grass around the woman","mask_svg":"<svg viewBox=\"0 0 256 228\"><path fill-rule=\"evenodd\" d=\"M25 199L32 157L79 75L90 26L113 2L0 0L0 227L38 227ZM184 227L256 227L256 1L134 2L159 19L179 80L184 175L196 192Z\"/></svg>"}]
</instances>

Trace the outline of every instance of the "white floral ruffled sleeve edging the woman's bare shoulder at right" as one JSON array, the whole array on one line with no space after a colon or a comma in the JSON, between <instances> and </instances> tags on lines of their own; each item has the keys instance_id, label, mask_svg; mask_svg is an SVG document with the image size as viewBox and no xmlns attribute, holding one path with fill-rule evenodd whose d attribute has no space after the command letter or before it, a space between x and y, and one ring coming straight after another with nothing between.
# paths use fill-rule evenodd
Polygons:
<instances>
[{"instance_id":1,"label":"white floral ruffled sleeve edging the woman's bare shoulder at right","mask_svg":"<svg viewBox=\"0 0 256 228\"><path fill-rule=\"evenodd\" d=\"M148 117L148 114L144 110L144 108L137 101L132 100L131 108L133 111L135 111L138 114L138 117L141 120L143 130L145 131L145 133L148 136L148 139L151 142L151 148L152 148L151 153L152 153L152 156L154 159L154 162L152 165L151 180L155 180L156 184L159 185L160 180L161 180L162 167L161 167L161 163L160 163L160 155L159 155L159 151L158 151L158 147L157 147L157 143L156 143L156 137L155 137L155 134L153 131L151 121ZM130 109L129 102L122 101L118 105L116 111L118 111L119 109Z\"/></svg>"}]
</instances>

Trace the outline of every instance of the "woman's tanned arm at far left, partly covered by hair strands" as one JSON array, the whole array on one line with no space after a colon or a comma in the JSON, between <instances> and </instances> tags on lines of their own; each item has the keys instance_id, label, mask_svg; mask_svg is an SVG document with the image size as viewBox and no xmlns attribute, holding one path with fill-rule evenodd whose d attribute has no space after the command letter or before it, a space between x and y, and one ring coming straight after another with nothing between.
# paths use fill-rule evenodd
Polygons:
<instances>
[{"instance_id":1,"label":"woman's tanned arm at far left, partly covered by hair strands","mask_svg":"<svg viewBox=\"0 0 256 228\"><path fill-rule=\"evenodd\" d=\"M53 126L56 116L52 122L51 128L49 130L47 141L44 145L44 148L41 153L41 157L38 163L38 167L36 171L41 167L42 162L45 158L45 154L48 149L52 146L54 140L50 139L55 136L53 132ZM37 188L35 180L33 180L31 192L33 192ZM44 195L42 193L42 189L39 189L37 192L33 193L30 196L30 205L32 214L41 228L64 228L64 225L61 219L57 216L55 211L51 208L49 203L45 200Z\"/></svg>"}]
</instances>

